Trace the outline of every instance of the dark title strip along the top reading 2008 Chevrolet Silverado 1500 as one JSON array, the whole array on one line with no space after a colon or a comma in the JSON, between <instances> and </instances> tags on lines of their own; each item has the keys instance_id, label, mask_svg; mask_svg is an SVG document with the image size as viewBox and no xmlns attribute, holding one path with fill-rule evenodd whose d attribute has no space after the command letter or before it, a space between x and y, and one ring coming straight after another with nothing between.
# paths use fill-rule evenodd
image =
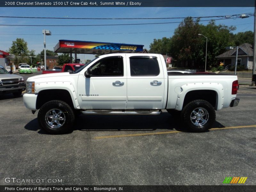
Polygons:
<instances>
[{"instance_id":1,"label":"dark title strip along the top reading 2008 Chevrolet Silverado 1500","mask_svg":"<svg viewBox=\"0 0 256 192\"><path fill-rule=\"evenodd\" d=\"M254 7L254 6L255 6L255 0L117 0L117 1L0 0L0 7Z\"/></svg>"}]
</instances>

